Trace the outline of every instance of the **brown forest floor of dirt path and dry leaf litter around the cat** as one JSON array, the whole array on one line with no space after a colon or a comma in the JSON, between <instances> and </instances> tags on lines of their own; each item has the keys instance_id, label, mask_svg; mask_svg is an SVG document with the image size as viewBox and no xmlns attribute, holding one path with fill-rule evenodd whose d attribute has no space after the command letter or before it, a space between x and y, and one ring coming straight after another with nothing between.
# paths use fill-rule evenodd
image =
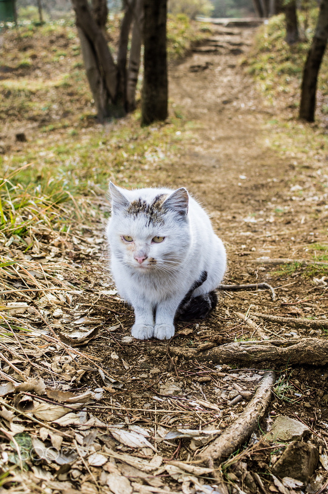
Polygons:
<instances>
[{"instance_id":1,"label":"brown forest floor of dirt path and dry leaf litter around the cat","mask_svg":"<svg viewBox=\"0 0 328 494\"><path fill-rule=\"evenodd\" d=\"M291 107L267 103L241 63L255 33L254 28L215 27L209 41L172 65L170 117L147 134L167 135L171 129L166 151L157 146L147 155L145 144L145 162L124 163L114 171L110 163L103 179L120 185L186 187L205 206L226 246L224 283L266 282L275 288L276 300L268 290L219 292L215 311L205 321L178 323L169 347L155 339L133 340L133 311L118 296L107 270L103 229L109 206L94 184L92 195L79 202L82 211L98 208L93 220L80 218L59 233L45 234L39 226L37 242L27 254L15 247L14 237L11 244L3 244L3 256L13 260L12 265L2 265L11 283L5 286L12 291L5 295L7 307L1 316L7 324L1 349L7 359L0 386L1 469L9 492L215 493L216 477L202 470L199 455L245 409L251 394L231 405L235 391L253 393L266 369L274 369L279 379L271 414L245 445L253 450L243 456L236 452L235 460L221 467L229 489L284 494L305 490L305 485L276 487L273 482L271 467L287 443L265 441L262 432L279 414L306 424L306 439L318 446L326 461L326 365L264 360L255 368L240 369L238 362L169 356L169 348L201 352L254 338L286 344L310 336L327 340L325 324L322 329L295 328L292 321L278 325L252 316L256 312L328 322L328 270L317 264L328 262L326 123L297 122ZM34 144L47 150L58 141L65 147L64 127L40 137L40 122L38 127L16 117L10 131L6 123L1 130L7 159L32 153ZM111 146L126 154L138 141L131 116L104 127L90 119L86 125L85 120L75 126L79 133L72 131L70 139L86 147L88 139L98 140L102 160L107 157L110 162ZM290 137L291 121L295 142L303 139L301 145ZM124 125L131 127L130 135L113 144L112 135ZM15 142L13 136L22 131L28 142ZM14 271L17 266L20 269ZM8 303L14 307L11 311ZM256 322L255 330L241 314ZM15 444L9 443L14 433L27 442L32 438L31 444L39 448L38 461L34 453L24 463L26 471L19 471L22 460ZM56 448L59 458L49 453ZM15 462L18 467L8 474L7 465ZM264 487L256 476L256 484L249 477L245 481L247 469L260 476ZM326 470L319 463L317 484L308 492L325 485Z\"/></svg>"}]
</instances>

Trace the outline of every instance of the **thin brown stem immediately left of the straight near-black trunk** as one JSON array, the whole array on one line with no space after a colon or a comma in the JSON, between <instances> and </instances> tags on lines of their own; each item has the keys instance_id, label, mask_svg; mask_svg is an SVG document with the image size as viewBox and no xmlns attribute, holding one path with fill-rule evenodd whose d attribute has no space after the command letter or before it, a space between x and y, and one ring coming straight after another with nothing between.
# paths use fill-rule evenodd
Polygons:
<instances>
[{"instance_id":1,"label":"thin brown stem immediately left of the straight near-black trunk","mask_svg":"<svg viewBox=\"0 0 328 494\"><path fill-rule=\"evenodd\" d=\"M140 53L143 31L143 0L137 0L135 6L135 16L133 21L131 49L129 56L129 64L127 69L126 81L126 104L127 111L131 112L135 109L135 91L138 82L138 74L140 67Z\"/></svg>"}]
</instances>

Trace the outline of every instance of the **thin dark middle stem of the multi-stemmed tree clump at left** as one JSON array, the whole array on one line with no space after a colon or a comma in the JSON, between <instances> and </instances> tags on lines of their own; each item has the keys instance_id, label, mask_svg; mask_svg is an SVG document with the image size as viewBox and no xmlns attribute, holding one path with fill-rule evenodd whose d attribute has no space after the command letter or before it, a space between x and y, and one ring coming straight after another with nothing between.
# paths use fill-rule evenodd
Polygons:
<instances>
[{"instance_id":1,"label":"thin dark middle stem of the multi-stemmed tree clump at left","mask_svg":"<svg viewBox=\"0 0 328 494\"><path fill-rule=\"evenodd\" d=\"M125 3L125 14L121 24L119 51L118 51L118 59L117 59L118 79L117 79L116 93L118 100L123 101L125 105L127 44L129 41L131 22L133 16L135 15L136 0L125 0L124 3Z\"/></svg>"}]
</instances>

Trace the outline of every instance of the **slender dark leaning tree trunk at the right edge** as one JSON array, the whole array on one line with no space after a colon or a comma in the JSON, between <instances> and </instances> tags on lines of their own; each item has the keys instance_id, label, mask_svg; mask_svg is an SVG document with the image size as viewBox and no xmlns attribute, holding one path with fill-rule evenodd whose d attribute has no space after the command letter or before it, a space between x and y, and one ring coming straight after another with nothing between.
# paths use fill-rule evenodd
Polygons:
<instances>
[{"instance_id":1,"label":"slender dark leaning tree trunk at the right edge","mask_svg":"<svg viewBox=\"0 0 328 494\"><path fill-rule=\"evenodd\" d=\"M317 79L328 40L328 0L320 5L316 32L305 62L301 89L299 118L314 122Z\"/></svg>"}]
</instances>

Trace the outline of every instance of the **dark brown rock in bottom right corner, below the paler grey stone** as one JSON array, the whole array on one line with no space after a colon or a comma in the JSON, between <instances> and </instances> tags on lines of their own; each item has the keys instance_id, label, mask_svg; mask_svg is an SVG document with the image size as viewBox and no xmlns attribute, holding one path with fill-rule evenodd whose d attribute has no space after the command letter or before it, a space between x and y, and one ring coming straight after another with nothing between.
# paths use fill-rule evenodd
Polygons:
<instances>
[{"instance_id":1,"label":"dark brown rock in bottom right corner, below the paler grey stone","mask_svg":"<svg viewBox=\"0 0 328 494\"><path fill-rule=\"evenodd\" d=\"M279 460L273 465L272 472L279 476L308 482L319 461L319 451L313 444L293 441Z\"/></svg>"}]
</instances>

